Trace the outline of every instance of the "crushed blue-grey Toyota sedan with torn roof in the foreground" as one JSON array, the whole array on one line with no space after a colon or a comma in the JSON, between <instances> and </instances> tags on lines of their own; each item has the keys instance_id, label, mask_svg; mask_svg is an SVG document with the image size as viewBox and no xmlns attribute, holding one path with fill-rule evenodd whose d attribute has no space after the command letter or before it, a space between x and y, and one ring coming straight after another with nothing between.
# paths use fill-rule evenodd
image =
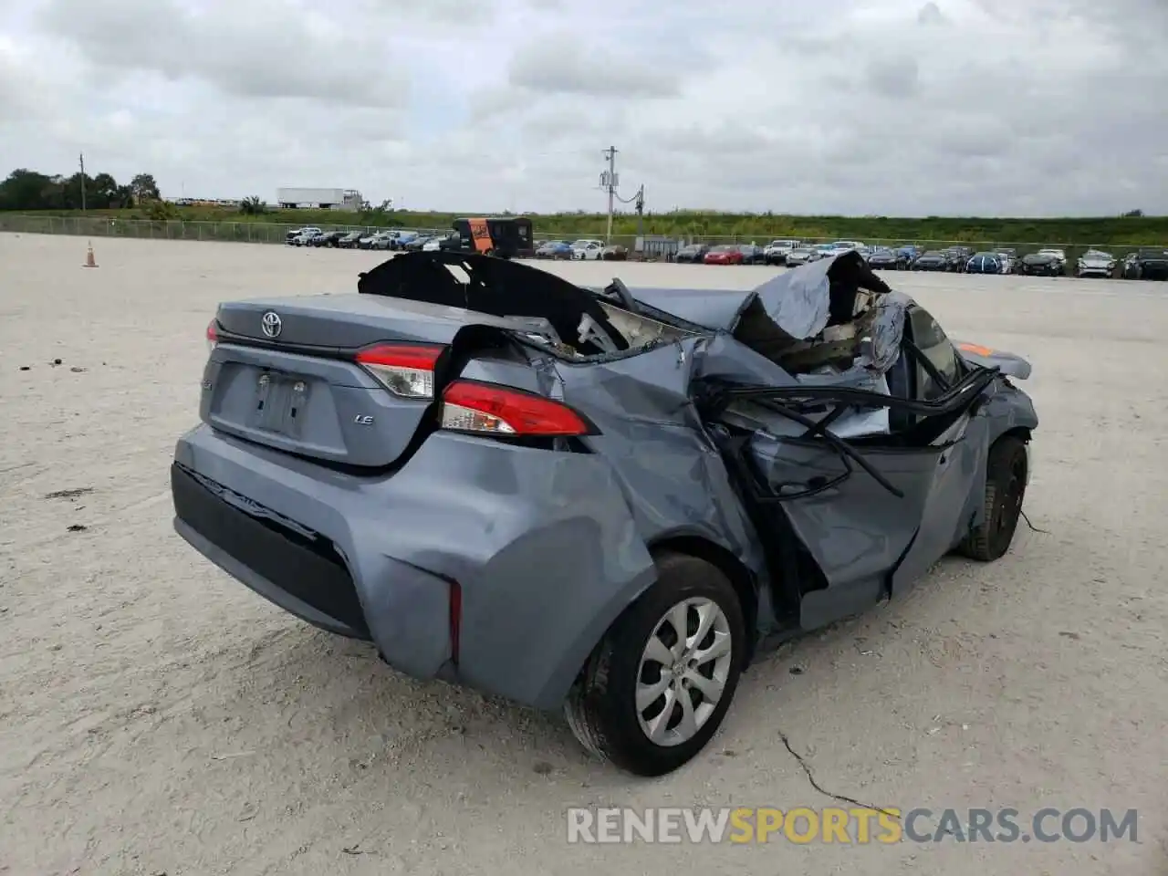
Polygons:
<instances>
[{"instance_id":1,"label":"crushed blue-grey Toyota sedan with torn roof in the foreground","mask_svg":"<svg viewBox=\"0 0 1168 876\"><path fill-rule=\"evenodd\" d=\"M759 649L1006 554L1030 364L854 252L751 291L588 288L464 252L221 304L178 533L392 667L543 709L634 773Z\"/></svg>"}]
</instances>

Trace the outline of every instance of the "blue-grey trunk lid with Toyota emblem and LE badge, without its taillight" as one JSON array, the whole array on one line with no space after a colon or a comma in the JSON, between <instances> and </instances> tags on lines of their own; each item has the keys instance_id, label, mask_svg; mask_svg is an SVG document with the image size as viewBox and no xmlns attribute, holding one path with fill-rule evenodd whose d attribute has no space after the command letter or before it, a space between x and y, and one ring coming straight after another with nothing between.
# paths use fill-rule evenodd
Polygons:
<instances>
[{"instance_id":1,"label":"blue-grey trunk lid with Toyota emblem and LE badge, without its taillight","mask_svg":"<svg viewBox=\"0 0 1168 876\"><path fill-rule=\"evenodd\" d=\"M419 437L433 398L390 391L356 361L359 352L395 345L432 353L431 385L438 395L461 329L538 332L543 322L362 294L223 304L203 373L200 416L216 430L276 450L388 467Z\"/></svg>"}]
</instances>

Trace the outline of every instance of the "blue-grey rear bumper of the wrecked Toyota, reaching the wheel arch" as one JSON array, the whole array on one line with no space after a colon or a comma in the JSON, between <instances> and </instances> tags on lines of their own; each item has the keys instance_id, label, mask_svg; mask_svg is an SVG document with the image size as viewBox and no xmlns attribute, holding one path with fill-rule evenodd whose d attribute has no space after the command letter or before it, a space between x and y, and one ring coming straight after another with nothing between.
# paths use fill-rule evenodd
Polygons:
<instances>
[{"instance_id":1,"label":"blue-grey rear bumper of the wrecked Toyota, reaching the wheel arch","mask_svg":"<svg viewBox=\"0 0 1168 876\"><path fill-rule=\"evenodd\" d=\"M175 529L276 605L390 666L555 708L654 579L600 458L431 436L392 475L342 474L200 425ZM452 660L451 591L461 596Z\"/></svg>"}]
</instances>

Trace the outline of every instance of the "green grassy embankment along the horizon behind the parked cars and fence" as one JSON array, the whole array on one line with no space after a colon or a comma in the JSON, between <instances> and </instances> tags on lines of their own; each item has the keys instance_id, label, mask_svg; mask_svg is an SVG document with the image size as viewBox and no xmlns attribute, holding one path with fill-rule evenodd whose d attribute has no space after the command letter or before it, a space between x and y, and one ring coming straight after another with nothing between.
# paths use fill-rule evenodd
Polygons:
<instances>
[{"instance_id":1,"label":"green grassy embankment along the horizon behind the parked cars and fence","mask_svg":"<svg viewBox=\"0 0 1168 876\"><path fill-rule=\"evenodd\" d=\"M81 217L74 211L37 211L29 216ZM459 215L453 213L394 211L387 214L341 214L332 210L272 210L246 216L236 210L207 207L175 208L167 218L188 222L264 222L314 224L322 227L399 227L450 228ZM599 214L571 213L533 215L537 237L603 237L606 217ZM89 210L86 218L99 216L123 220L160 220L147 210ZM15 218L0 214L0 220ZM613 221L613 236L630 237L638 231L637 216L620 215ZM1049 243L1072 246L1101 245L1131 248L1168 244L1168 216L1099 217L1099 218L979 218L939 217L897 218L885 216L780 216L742 215L703 211L649 214L644 218L644 232L672 237L738 237L759 243L773 237L847 238L865 242L993 242Z\"/></svg>"}]
</instances>

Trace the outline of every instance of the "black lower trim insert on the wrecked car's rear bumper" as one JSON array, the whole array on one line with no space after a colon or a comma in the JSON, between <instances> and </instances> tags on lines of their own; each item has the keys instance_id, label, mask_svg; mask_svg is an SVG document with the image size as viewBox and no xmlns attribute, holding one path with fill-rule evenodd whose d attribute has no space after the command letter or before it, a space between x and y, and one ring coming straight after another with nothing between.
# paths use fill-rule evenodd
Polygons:
<instances>
[{"instance_id":1,"label":"black lower trim insert on the wrecked car's rear bumper","mask_svg":"<svg viewBox=\"0 0 1168 876\"><path fill-rule=\"evenodd\" d=\"M370 638L353 577L327 538L308 537L241 510L176 463L171 466L171 491L175 515L210 544L274 588L334 618L354 638Z\"/></svg>"}]
</instances>

